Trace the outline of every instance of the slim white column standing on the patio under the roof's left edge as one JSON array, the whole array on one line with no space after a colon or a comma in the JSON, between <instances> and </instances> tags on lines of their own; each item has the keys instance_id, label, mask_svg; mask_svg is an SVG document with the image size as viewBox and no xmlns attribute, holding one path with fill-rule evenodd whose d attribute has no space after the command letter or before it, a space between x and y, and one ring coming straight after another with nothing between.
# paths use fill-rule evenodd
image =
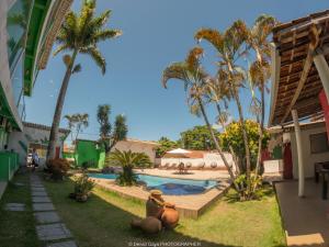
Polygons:
<instances>
[{"instance_id":1,"label":"slim white column standing on the patio under the roof's left edge","mask_svg":"<svg viewBox=\"0 0 329 247\"><path fill-rule=\"evenodd\" d=\"M295 136L296 136L297 155L298 155L298 197L302 198L304 197L304 188L305 188L302 132L300 132L298 114L296 110L292 110L292 116L295 126Z\"/></svg>"}]
</instances>

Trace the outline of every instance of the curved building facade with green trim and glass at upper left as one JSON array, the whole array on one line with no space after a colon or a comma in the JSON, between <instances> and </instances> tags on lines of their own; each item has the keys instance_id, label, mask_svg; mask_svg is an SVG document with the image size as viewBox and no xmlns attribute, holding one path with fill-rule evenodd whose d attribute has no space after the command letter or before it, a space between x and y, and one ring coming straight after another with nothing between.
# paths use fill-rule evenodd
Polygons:
<instances>
[{"instance_id":1,"label":"curved building facade with green trim and glass at upper left","mask_svg":"<svg viewBox=\"0 0 329 247\"><path fill-rule=\"evenodd\" d=\"M10 164L21 160L21 157L11 160L12 155L4 149L10 149L11 133L22 132L24 128L24 97L32 96L37 74L46 67L56 34L71 2L72 0L0 1L1 173L2 170L10 169ZM13 167L18 168L16 165ZM1 180L8 180L8 176L0 177Z\"/></svg>"}]
</instances>

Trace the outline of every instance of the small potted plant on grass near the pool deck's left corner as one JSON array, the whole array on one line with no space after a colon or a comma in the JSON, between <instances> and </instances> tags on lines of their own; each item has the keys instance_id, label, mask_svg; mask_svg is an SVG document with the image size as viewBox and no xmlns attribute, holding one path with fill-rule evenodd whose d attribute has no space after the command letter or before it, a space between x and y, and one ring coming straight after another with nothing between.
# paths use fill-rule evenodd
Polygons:
<instances>
[{"instance_id":1,"label":"small potted plant on grass near the pool deck's left corner","mask_svg":"<svg viewBox=\"0 0 329 247\"><path fill-rule=\"evenodd\" d=\"M70 193L71 199L76 199L78 202L86 202L94 188L94 182L91 181L86 172L75 181L75 192Z\"/></svg>"}]
</instances>

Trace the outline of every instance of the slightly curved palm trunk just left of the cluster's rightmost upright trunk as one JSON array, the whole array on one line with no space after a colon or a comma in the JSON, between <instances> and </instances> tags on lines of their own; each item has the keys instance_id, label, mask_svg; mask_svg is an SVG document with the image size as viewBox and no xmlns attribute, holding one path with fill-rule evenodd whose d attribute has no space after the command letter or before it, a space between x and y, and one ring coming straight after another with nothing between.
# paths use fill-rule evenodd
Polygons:
<instances>
[{"instance_id":1,"label":"slightly curved palm trunk just left of the cluster's rightmost upright trunk","mask_svg":"<svg viewBox=\"0 0 329 247\"><path fill-rule=\"evenodd\" d=\"M245 124L245 119L243 119L242 106L241 106L239 93L237 92L237 89L232 89L232 91L234 91L234 97L235 97L237 105L238 105L240 124L241 124L241 128L242 128L242 137L243 137L243 143L245 143L245 150L246 150L246 168L247 168L246 177L247 177L248 190L250 190L251 166L250 166L250 149L249 149L249 143L248 143L248 135L247 135L247 130L246 130L246 124Z\"/></svg>"}]
</instances>

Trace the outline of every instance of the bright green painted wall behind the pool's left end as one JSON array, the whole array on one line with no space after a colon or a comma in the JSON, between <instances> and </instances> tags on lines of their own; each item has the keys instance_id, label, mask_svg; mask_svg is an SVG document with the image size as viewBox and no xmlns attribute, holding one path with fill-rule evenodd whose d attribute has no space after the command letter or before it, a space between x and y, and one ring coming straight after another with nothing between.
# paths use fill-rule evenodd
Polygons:
<instances>
[{"instance_id":1,"label":"bright green painted wall behind the pool's left end","mask_svg":"<svg viewBox=\"0 0 329 247\"><path fill-rule=\"evenodd\" d=\"M93 141L78 141L76 154L78 166L90 162L93 168L104 167L105 151L103 148L98 147Z\"/></svg>"}]
</instances>

